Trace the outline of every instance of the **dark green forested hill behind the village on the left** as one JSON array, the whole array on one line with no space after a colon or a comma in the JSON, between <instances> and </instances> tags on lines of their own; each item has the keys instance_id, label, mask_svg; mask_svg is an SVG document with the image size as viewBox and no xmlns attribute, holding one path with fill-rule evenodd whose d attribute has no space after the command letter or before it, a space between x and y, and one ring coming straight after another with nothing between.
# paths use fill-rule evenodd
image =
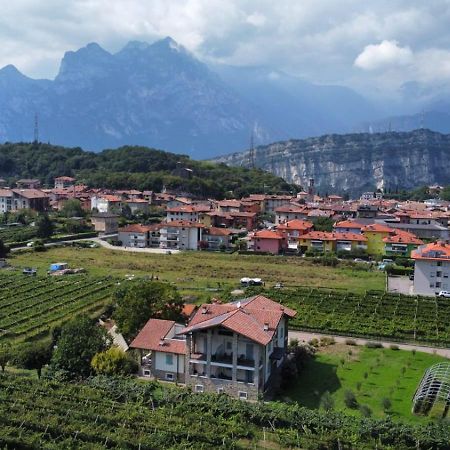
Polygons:
<instances>
[{"instance_id":1,"label":"dark green forested hill behind the village on the left","mask_svg":"<svg viewBox=\"0 0 450 450\"><path fill-rule=\"evenodd\" d=\"M61 175L75 176L77 182L91 187L161 191L165 186L215 198L294 189L261 169L194 161L186 155L147 147L125 146L92 153L41 143L0 145L0 177L9 184L18 178L38 178L52 186L53 179Z\"/></svg>"}]
</instances>

